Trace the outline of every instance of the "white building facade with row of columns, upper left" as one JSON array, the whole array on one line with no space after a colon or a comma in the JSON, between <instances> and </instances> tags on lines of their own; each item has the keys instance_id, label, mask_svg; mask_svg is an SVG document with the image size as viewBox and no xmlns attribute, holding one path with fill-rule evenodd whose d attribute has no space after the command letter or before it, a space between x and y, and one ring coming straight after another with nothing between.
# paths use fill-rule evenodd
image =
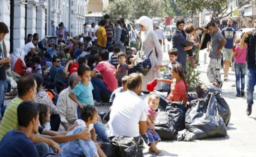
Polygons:
<instances>
[{"instance_id":1,"label":"white building facade with row of columns, upper left","mask_svg":"<svg viewBox=\"0 0 256 157\"><path fill-rule=\"evenodd\" d=\"M88 0L0 0L0 21L10 28L7 51L23 50L28 34L38 33L40 40L51 35L52 19L56 26L63 22L71 36L81 34L87 6Z\"/></svg>"}]
</instances>

